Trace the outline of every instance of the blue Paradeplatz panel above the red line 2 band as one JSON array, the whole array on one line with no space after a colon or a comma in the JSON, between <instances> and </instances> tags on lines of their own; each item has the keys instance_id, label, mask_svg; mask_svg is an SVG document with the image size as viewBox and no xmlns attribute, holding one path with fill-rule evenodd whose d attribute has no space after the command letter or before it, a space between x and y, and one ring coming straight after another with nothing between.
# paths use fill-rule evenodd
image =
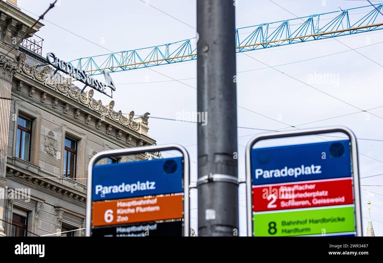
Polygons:
<instances>
[{"instance_id":1,"label":"blue Paradeplatz panel above the red line 2 band","mask_svg":"<svg viewBox=\"0 0 383 263\"><path fill-rule=\"evenodd\" d=\"M349 140L252 149L253 185L351 176Z\"/></svg>"}]
</instances>

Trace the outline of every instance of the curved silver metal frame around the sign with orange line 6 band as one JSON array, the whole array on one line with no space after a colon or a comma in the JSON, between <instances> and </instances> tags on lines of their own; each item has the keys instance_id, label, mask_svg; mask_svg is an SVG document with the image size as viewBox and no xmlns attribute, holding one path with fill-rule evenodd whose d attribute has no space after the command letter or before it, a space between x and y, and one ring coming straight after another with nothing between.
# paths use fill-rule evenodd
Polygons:
<instances>
[{"instance_id":1,"label":"curved silver metal frame around the sign with orange line 6 band","mask_svg":"<svg viewBox=\"0 0 383 263\"><path fill-rule=\"evenodd\" d=\"M100 152L93 156L88 165L88 183L87 183L87 209L86 209L86 219L85 219L85 236L90 236L91 222L92 222L92 171L93 166L101 158L113 157L118 155L131 155L131 154L140 154L143 152L160 152L165 150L178 150L182 153L183 156L183 236L189 236L190 232L190 216L189 216L189 207L190 207L190 198L189 198L189 183L190 183L190 165L189 165L189 154L185 148L178 144L166 144L166 145L155 145L155 146L142 146L142 147L133 147L128 149L116 149L116 150L107 150Z\"/></svg>"}]
</instances>

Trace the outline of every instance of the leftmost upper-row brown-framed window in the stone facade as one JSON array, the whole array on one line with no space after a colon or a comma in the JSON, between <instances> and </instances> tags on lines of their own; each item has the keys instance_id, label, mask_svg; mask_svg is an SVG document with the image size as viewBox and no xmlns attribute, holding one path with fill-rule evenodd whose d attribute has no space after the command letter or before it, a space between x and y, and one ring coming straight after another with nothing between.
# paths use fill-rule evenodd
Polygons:
<instances>
[{"instance_id":1,"label":"leftmost upper-row brown-framed window in the stone facade","mask_svg":"<svg viewBox=\"0 0 383 263\"><path fill-rule=\"evenodd\" d=\"M29 162L31 160L32 121L19 116L17 120L16 157Z\"/></svg>"}]
</instances>

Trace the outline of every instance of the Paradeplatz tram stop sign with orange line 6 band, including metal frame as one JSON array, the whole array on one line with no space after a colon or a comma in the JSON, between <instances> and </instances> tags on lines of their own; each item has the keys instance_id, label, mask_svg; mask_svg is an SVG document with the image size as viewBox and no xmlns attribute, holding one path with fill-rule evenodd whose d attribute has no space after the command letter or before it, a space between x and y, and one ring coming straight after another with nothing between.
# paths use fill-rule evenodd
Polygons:
<instances>
[{"instance_id":1,"label":"Paradeplatz tram stop sign with orange line 6 band, including metal frame","mask_svg":"<svg viewBox=\"0 0 383 263\"><path fill-rule=\"evenodd\" d=\"M177 146L178 147L178 146ZM176 147L176 148L177 148ZM139 149L138 149L139 148ZM174 147L137 147L113 150L114 155L174 149ZM177 148L180 150L179 148ZM183 149L183 148L182 148ZM181 150L180 150L181 151ZM188 209L189 165L183 157L137 162L94 165L106 151L95 155L88 181L87 226L92 236L182 236L189 229L184 216ZM186 158L185 158L186 154ZM96 160L97 159L97 160ZM185 164L185 162L187 162ZM92 167L91 167L92 165ZM186 167L185 167L186 166ZM88 169L89 171L89 169ZM171 222L156 222L172 220Z\"/></svg>"}]
</instances>

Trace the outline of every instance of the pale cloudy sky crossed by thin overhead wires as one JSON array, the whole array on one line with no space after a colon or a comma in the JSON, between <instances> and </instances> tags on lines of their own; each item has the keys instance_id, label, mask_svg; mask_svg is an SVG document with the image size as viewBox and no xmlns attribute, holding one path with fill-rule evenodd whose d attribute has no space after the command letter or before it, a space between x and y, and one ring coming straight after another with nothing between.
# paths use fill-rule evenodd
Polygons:
<instances>
[{"instance_id":1,"label":"pale cloudy sky crossed by thin overhead wires","mask_svg":"<svg viewBox=\"0 0 383 263\"><path fill-rule=\"evenodd\" d=\"M39 5L36 5L36 1L18 0L18 6L36 18L50 2L52 0L39 0ZM236 28L338 11L339 7L344 10L365 5L369 3L363 0L237 0ZM196 36L196 1L192 0L58 0L56 7L44 18L42 23L45 26L36 33L44 39L43 56L54 52L65 61L162 45ZM383 174L383 107L376 108L383 106L383 57L380 52L382 44L379 43L382 39L383 30L378 30L246 52L250 57L237 54L237 72L244 71L237 74L237 105L243 107L237 108L238 126L288 131L294 129L291 126L298 125L300 129L340 125L348 127L360 138L362 231L365 235L367 202L371 201L372 223L375 235L379 236L383 235L383 175L363 177ZM358 47L362 48L357 52L350 50ZM334 54L337 52L342 53ZM313 59L316 57L321 58ZM306 59L311 60L276 66ZM265 67L261 62L284 74L270 67L260 69ZM158 73L150 69L136 69L111 74L116 84L113 98L116 111L149 112L153 117L171 119L177 118L182 111L196 112L196 60L152 69ZM316 90L305 84L310 83L310 77L314 74L333 74L337 81L311 83ZM102 76L97 78L103 79ZM181 80L185 78L187 80ZM101 93L95 93L94 97L101 99L104 105L110 101ZM357 113L359 110L349 104L362 110L372 110ZM149 128L149 136L157 140L157 145L177 143L186 147L191 159L191 181L195 182L196 124L149 118ZM238 175L242 179L245 178L244 146L257 132L260 131L238 128ZM262 142L259 146L319 141L323 140L305 137ZM163 156L172 157L167 153ZM193 191L190 195L191 227L198 234L197 195ZM367 197L367 191L373 196ZM239 220L240 235L246 235L244 184L239 187Z\"/></svg>"}]
</instances>

